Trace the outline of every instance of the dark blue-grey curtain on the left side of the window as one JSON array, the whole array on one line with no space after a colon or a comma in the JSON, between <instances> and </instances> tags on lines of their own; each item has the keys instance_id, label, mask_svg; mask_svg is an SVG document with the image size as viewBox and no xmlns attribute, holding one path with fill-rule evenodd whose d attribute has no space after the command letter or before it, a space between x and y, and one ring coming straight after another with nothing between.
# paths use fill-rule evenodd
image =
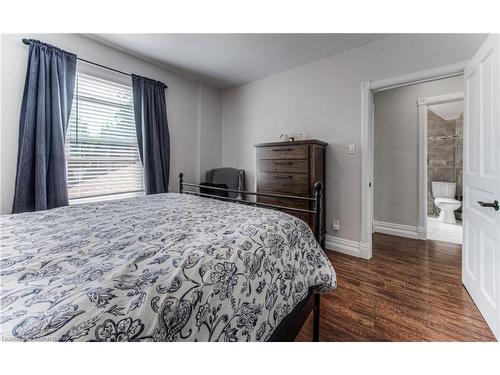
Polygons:
<instances>
[{"instance_id":1,"label":"dark blue-grey curtain on the left side of the window","mask_svg":"<svg viewBox=\"0 0 500 375\"><path fill-rule=\"evenodd\" d=\"M64 138L75 74L76 55L30 40L13 213L68 204Z\"/></svg>"}]
</instances>

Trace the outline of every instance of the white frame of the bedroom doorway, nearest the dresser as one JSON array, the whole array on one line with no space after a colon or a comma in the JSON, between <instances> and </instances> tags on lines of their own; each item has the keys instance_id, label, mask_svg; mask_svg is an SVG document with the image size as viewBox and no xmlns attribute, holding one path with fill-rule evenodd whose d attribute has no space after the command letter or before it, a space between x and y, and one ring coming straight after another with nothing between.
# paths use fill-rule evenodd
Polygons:
<instances>
[{"instance_id":1,"label":"white frame of the bedroom doorway, nearest the dresser","mask_svg":"<svg viewBox=\"0 0 500 375\"><path fill-rule=\"evenodd\" d=\"M462 75L468 62L469 60L465 60L456 64L361 83L361 223L359 237L363 258L371 259L373 250L373 94L396 87Z\"/></svg>"}]
</instances>

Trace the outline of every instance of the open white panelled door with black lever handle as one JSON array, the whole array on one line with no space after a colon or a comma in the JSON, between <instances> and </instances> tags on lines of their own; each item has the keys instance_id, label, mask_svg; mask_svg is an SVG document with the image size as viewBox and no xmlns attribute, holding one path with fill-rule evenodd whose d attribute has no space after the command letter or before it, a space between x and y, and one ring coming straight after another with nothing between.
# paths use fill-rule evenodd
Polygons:
<instances>
[{"instance_id":1,"label":"open white panelled door with black lever handle","mask_svg":"<svg viewBox=\"0 0 500 375\"><path fill-rule=\"evenodd\" d=\"M462 281L497 340L500 339L499 70L500 37L490 35L464 72Z\"/></svg>"}]
</instances>

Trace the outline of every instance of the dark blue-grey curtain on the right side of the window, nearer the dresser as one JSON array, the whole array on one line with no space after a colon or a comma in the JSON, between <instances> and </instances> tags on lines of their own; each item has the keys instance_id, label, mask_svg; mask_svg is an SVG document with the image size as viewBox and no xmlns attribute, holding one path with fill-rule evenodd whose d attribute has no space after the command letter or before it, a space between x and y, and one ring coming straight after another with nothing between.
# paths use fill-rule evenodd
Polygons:
<instances>
[{"instance_id":1,"label":"dark blue-grey curtain on the right side of the window, nearer the dresser","mask_svg":"<svg viewBox=\"0 0 500 375\"><path fill-rule=\"evenodd\" d=\"M132 74L135 127L146 194L168 192L170 135L166 87L162 82Z\"/></svg>"}]
</instances>

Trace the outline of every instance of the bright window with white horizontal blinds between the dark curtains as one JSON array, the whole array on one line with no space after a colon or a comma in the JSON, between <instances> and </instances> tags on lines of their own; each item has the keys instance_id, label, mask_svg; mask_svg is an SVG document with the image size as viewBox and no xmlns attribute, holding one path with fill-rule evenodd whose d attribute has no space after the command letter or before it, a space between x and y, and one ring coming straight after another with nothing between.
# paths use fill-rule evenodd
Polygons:
<instances>
[{"instance_id":1,"label":"bright window with white horizontal blinds between the dark curtains","mask_svg":"<svg viewBox=\"0 0 500 375\"><path fill-rule=\"evenodd\" d=\"M143 194L130 86L77 74L66 161L70 203Z\"/></svg>"}]
</instances>

